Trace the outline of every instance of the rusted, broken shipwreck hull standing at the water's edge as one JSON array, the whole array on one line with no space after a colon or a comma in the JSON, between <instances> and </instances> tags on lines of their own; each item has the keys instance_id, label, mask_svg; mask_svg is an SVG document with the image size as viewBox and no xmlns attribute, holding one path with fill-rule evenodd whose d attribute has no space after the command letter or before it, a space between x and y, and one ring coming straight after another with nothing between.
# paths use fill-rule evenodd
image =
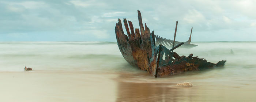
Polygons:
<instances>
[{"instance_id":1,"label":"rusted, broken shipwreck hull standing at the water's edge","mask_svg":"<svg viewBox=\"0 0 256 102\"><path fill-rule=\"evenodd\" d=\"M184 44L183 42L171 50L162 44L156 46L154 31L150 32L146 23L144 28L140 11L138 11L138 19L140 29L135 30L131 21L127 23L126 19L123 20L127 35L124 34L120 19L115 27L118 47L130 65L145 70L155 77L225 65L226 61L223 60L214 64L203 58L193 57L193 54L185 57L172 52L173 49Z\"/></svg>"}]
</instances>

